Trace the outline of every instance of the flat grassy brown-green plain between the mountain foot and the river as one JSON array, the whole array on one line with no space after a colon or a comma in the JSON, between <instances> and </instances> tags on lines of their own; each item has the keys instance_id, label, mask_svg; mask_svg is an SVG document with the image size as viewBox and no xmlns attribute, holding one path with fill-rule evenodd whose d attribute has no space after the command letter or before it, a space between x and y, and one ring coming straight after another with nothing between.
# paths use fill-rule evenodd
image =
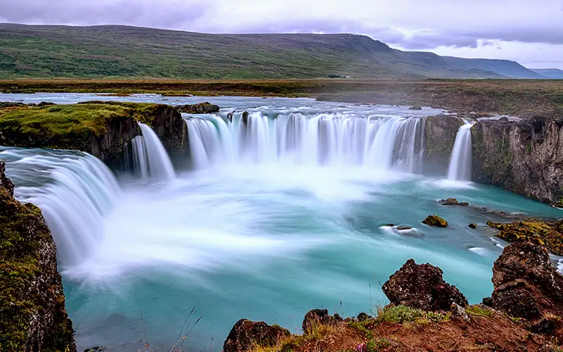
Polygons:
<instances>
[{"instance_id":1,"label":"flat grassy brown-green plain between the mountain foot and the river","mask_svg":"<svg viewBox=\"0 0 563 352\"><path fill-rule=\"evenodd\" d=\"M0 80L2 93L287 96L517 116L563 112L563 80Z\"/></svg>"}]
</instances>

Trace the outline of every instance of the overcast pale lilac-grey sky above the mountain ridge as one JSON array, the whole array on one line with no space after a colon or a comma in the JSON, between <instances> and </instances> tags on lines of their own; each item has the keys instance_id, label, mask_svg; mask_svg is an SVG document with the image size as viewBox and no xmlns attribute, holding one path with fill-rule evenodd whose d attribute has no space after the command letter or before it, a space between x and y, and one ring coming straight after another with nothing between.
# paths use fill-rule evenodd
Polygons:
<instances>
[{"instance_id":1,"label":"overcast pale lilac-grey sky above the mountain ridge","mask_svg":"<svg viewBox=\"0 0 563 352\"><path fill-rule=\"evenodd\" d=\"M563 0L0 0L0 22L348 32L397 49L563 69Z\"/></svg>"}]
</instances>

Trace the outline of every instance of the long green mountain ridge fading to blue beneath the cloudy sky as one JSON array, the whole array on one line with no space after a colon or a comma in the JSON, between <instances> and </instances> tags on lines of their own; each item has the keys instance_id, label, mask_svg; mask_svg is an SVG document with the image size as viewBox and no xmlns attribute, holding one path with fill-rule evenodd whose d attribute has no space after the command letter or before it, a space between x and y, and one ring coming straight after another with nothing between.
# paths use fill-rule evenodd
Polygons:
<instances>
[{"instance_id":1,"label":"long green mountain ridge fading to blue beneath the cloudy sky","mask_svg":"<svg viewBox=\"0 0 563 352\"><path fill-rule=\"evenodd\" d=\"M514 61L400 51L358 34L203 34L0 24L0 78L543 78Z\"/></svg>"}]
</instances>

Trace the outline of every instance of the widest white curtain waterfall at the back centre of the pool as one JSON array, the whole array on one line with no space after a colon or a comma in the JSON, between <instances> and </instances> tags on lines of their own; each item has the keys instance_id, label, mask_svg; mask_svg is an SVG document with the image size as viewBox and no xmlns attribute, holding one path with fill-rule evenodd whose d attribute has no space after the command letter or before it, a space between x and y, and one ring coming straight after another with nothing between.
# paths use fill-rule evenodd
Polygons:
<instances>
[{"instance_id":1,"label":"widest white curtain waterfall at the back centre of the pool","mask_svg":"<svg viewBox=\"0 0 563 352\"><path fill-rule=\"evenodd\" d=\"M420 172L424 118L346 113L183 115L194 169L216 163L288 161L307 165L366 165Z\"/></svg>"}]
</instances>

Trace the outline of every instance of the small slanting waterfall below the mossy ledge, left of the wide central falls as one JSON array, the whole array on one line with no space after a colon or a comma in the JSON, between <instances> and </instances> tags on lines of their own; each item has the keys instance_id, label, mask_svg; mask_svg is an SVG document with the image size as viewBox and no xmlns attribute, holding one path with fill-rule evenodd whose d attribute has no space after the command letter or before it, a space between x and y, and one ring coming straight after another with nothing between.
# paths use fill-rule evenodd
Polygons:
<instances>
[{"instance_id":1,"label":"small slanting waterfall below the mossy ledge, left of the wide central falls","mask_svg":"<svg viewBox=\"0 0 563 352\"><path fill-rule=\"evenodd\" d=\"M142 136L132 139L135 174L141 180L170 181L175 179L174 166L162 142L151 127L139 122Z\"/></svg>"}]
</instances>

